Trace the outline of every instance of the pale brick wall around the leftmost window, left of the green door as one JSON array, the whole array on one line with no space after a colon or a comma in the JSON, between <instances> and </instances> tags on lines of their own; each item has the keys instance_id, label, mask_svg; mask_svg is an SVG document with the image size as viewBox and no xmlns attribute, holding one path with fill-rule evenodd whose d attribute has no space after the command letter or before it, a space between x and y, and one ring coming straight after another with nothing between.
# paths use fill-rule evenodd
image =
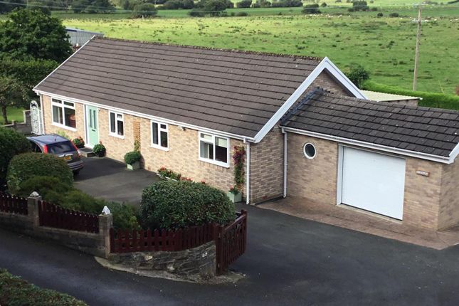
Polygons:
<instances>
[{"instance_id":1,"label":"pale brick wall around the leftmost window, left of the green door","mask_svg":"<svg viewBox=\"0 0 459 306\"><path fill-rule=\"evenodd\" d=\"M53 112L51 110L51 98L43 95L42 100L42 110L43 110L43 123L44 123L44 132L46 134L57 133L59 131L65 132L65 134L70 137L70 139L76 138L78 136L85 138L85 120L84 120L84 107L81 104L75 103L75 120L76 120L76 132L73 130L68 130L63 127L58 127L53 125Z\"/></svg>"}]
</instances>

